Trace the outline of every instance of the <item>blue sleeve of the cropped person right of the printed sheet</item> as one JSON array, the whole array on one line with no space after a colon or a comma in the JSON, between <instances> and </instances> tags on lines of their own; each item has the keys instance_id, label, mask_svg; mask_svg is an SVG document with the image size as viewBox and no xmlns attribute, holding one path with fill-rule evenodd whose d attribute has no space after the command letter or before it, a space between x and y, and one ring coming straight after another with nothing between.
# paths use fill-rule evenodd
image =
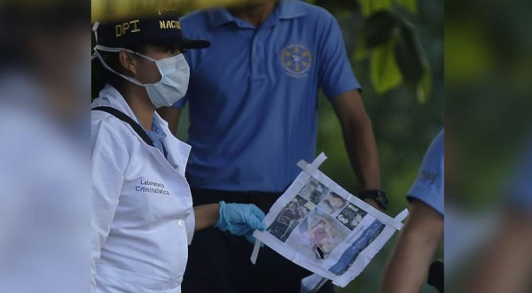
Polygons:
<instances>
[{"instance_id":1,"label":"blue sleeve of the cropped person right of the printed sheet","mask_svg":"<svg viewBox=\"0 0 532 293\"><path fill-rule=\"evenodd\" d=\"M418 178L408 192L409 201L419 199L442 215L444 199L444 135L443 130L434 138L421 163Z\"/></svg>"}]
</instances>

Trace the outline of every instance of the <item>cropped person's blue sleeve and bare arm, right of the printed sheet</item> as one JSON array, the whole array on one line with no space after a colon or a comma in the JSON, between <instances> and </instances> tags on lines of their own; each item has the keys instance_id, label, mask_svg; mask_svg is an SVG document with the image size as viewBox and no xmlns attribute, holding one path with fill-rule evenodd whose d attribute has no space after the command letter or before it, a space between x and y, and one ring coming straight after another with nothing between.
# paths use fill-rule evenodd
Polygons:
<instances>
[{"instance_id":1,"label":"cropped person's blue sleeve and bare arm, right of the printed sheet","mask_svg":"<svg viewBox=\"0 0 532 293\"><path fill-rule=\"evenodd\" d=\"M443 235L443 158L442 130L426 151L418 178L408 192L410 214L388 260L381 293L419 292L426 281L434 252ZM443 286L442 280L438 281Z\"/></svg>"}]
</instances>

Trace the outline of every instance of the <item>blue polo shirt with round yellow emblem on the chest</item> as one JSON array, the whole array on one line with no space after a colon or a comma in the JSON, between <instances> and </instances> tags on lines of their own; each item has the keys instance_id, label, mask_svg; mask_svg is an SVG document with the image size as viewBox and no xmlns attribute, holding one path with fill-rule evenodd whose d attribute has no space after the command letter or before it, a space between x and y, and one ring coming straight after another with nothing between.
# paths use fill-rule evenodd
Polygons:
<instances>
[{"instance_id":1,"label":"blue polo shirt with round yellow emblem on the chest","mask_svg":"<svg viewBox=\"0 0 532 293\"><path fill-rule=\"evenodd\" d=\"M317 90L359 89L329 12L282 1L256 28L225 9L181 19L191 66L187 179L192 188L281 192L316 152ZM340 142L339 142L340 143Z\"/></svg>"}]
</instances>

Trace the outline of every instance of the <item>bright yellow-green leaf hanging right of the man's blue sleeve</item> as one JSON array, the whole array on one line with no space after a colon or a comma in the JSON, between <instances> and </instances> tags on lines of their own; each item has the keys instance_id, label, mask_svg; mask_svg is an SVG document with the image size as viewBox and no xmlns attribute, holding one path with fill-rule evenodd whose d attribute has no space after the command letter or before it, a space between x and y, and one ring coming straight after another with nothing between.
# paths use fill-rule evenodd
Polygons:
<instances>
[{"instance_id":1,"label":"bright yellow-green leaf hanging right of the man's blue sleeve","mask_svg":"<svg viewBox=\"0 0 532 293\"><path fill-rule=\"evenodd\" d=\"M395 62L395 39L376 47L370 53L370 78L378 95L394 89L403 81L403 76Z\"/></svg>"}]
</instances>

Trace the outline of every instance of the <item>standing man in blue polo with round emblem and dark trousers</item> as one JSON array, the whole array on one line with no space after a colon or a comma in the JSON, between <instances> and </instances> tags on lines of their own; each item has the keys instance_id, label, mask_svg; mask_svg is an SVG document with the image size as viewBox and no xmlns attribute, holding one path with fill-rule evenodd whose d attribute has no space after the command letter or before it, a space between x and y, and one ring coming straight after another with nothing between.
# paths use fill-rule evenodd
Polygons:
<instances>
[{"instance_id":1,"label":"standing man in blue polo with round emblem and dark trousers","mask_svg":"<svg viewBox=\"0 0 532 293\"><path fill-rule=\"evenodd\" d=\"M315 157L322 89L340 120L360 195L386 208L372 122L329 12L301 1L263 1L194 12L181 26L187 37L211 42L185 53L187 96L161 112L175 131L180 109L190 104L187 179L194 204L254 203L268 212L301 171L297 162ZM194 235L184 293L299 292L310 274L269 249L252 266L251 251L215 230Z\"/></svg>"}]
</instances>

